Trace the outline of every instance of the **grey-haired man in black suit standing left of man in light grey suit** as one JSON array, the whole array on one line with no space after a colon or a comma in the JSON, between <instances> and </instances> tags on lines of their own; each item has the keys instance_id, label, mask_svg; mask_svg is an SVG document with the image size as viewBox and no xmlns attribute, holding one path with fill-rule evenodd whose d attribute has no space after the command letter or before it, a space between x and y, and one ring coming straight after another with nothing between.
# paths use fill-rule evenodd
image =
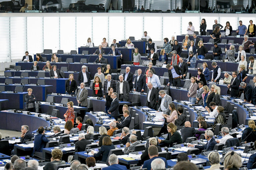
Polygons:
<instances>
[{"instance_id":1,"label":"grey-haired man in black suit standing left of man in light grey suit","mask_svg":"<svg viewBox=\"0 0 256 170\"><path fill-rule=\"evenodd\" d=\"M153 87L152 83L148 83L147 91L147 106L154 110L157 110L158 103L158 90Z\"/></svg>"}]
</instances>

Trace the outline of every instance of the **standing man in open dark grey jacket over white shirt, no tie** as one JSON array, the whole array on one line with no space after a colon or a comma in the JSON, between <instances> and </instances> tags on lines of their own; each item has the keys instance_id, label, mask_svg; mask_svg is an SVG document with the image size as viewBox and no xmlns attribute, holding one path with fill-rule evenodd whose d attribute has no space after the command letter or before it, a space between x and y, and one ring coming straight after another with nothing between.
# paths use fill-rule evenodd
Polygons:
<instances>
[{"instance_id":1,"label":"standing man in open dark grey jacket over white shirt, no tie","mask_svg":"<svg viewBox=\"0 0 256 170\"><path fill-rule=\"evenodd\" d=\"M118 96L118 100L127 101L129 96L130 88L127 81L123 80L123 76L119 76L119 82L116 85L116 93Z\"/></svg>"}]
</instances>

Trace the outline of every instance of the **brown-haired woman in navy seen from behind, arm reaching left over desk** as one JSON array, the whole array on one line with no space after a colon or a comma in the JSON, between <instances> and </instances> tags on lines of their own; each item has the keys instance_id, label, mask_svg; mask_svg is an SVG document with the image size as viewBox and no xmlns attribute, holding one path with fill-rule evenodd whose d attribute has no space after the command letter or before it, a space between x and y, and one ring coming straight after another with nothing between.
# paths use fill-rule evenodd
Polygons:
<instances>
[{"instance_id":1,"label":"brown-haired woman in navy seen from behind, arm reaching left over desk","mask_svg":"<svg viewBox=\"0 0 256 170\"><path fill-rule=\"evenodd\" d=\"M115 146L112 144L110 137L105 136L102 139L102 146L100 147L98 153L94 153L93 151L91 151L91 153L93 154L94 158L101 158L102 162L106 162L108 153L111 149L115 149Z\"/></svg>"}]
</instances>

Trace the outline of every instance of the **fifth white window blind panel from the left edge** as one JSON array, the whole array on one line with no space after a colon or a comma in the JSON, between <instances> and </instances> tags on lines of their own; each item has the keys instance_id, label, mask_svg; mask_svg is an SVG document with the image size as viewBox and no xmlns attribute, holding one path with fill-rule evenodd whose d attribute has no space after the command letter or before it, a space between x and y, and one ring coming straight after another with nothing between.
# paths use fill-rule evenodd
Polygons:
<instances>
[{"instance_id":1,"label":"fifth white window blind panel from the left edge","mask_svg":"<svg viewBox=\"0 0 256 170\"><path fill-rule=\"evenodd\" d=\"M60 49L65 49L67 52L78 51L75 46L75 36L75 17L60 17Z\"/></svg>"}]
</instances>

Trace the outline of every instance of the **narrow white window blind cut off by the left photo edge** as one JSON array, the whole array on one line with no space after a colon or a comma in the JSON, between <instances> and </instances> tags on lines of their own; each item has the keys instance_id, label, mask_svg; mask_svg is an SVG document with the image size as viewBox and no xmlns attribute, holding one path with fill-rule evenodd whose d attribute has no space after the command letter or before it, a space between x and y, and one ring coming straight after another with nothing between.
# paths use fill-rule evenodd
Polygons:
<instances>
[{"instance_id":1,"label":"narrow white window blind cut off by the left photo edge","mask_svg":"<svg viewBox=\"0 0 256 170\"><path fill-rule=\"evenodd\" d=\"M9 17L0 17L0 62L10 61Z\"/></svg>"}]
</instances>

